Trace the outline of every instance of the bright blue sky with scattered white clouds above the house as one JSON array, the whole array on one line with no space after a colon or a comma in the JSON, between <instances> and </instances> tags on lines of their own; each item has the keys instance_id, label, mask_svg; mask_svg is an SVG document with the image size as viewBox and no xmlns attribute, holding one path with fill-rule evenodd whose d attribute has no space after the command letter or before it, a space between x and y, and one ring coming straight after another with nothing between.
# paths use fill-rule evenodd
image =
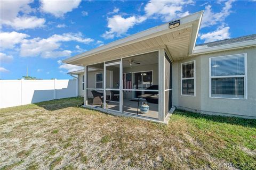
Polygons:
<instances>
[{"instance_id":1,"label":"bright blue sky with scattered white clouds above the house","mask_svg":"<svg viewBox=\"0 0 256 170\"><path fill-rule=\"evenodd\" d=\"M61 60L205 10L197 44L256 33L255 1L1 1L1 79L71 79Z\"/></svg>"}]
</instances>

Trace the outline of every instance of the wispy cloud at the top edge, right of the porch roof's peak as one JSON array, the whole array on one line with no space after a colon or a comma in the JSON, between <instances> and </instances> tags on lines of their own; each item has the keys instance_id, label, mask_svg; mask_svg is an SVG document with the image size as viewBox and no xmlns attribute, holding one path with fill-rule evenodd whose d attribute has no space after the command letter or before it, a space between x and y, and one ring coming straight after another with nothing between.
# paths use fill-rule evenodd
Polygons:
<instances>
[{"instance_id":1,"label":"wispy cloud at the top edge, right of the porch roof's peak","mask_svg":"<svg viewBox=\"0 0 256 170\"><path fill-rule=\"evenodd\" d=\"M225 6L222 7L222 10L220 12L214 13L212 11L212 6L207 5L205 6L201 28L209 27L211 25L215 25L217 23L220 23L224 21L227 16L231 13L231 7L232 7L233 1L227 1L225 2Z\"/></svg>"}]
</instances>

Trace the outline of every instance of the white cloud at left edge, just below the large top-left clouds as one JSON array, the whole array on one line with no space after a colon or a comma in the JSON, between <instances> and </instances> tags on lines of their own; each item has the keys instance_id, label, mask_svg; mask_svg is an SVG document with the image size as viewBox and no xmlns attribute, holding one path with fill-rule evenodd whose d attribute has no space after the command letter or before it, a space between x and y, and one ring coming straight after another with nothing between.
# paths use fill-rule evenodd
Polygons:
<instances>
[{"instance_id":1,"label":"white cloud at left edge, just below the large top-left clouds","mask_svg":"<svg viewBox=\"0 0 256 170\"><path fill-rule=\"evenodd\" d=\"M14 45L21 43L25 38L29 37L26 33L19 32L0 32L1 50L5 48L14 48Z\"/></svg>"}]
</instances>

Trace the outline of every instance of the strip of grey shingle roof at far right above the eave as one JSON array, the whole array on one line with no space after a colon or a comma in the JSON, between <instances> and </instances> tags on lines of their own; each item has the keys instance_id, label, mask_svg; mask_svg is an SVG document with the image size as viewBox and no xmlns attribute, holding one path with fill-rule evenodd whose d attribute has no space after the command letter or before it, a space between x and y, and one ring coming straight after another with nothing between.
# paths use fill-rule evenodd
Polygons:
<instances>
[{"instance_id":1,"label":"strip of grey shingle roof at far right above the eave","mask_svg":"<svg viewBox=\"0 0 256 170\"><path fill-rule=\"evenodd\" d=\"M237 38L230 38L230 39L224 39L219 41L214 41L211 43L204 43L204 44L197 44L196 46L204 46L207 45L208 47L214 47L214 46L221 46L226 44L232 44L232 43L239 43L243 41L249 41L256 39L256 34L243 36L243 37L237 37Z\"/></svg>"}]
</instances>

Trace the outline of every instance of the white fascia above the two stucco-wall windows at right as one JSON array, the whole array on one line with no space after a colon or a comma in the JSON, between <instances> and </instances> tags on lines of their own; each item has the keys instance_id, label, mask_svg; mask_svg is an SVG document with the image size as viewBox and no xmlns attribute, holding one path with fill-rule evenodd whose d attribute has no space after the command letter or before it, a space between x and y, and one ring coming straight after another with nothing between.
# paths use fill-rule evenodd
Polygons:
<instances>
[{"instance_id":1,"label":"white fascia above the two stucco-wall windows at right","mask_svg":"<svg viewBox=\"0 0 256 170\"><path fill-rule=\"evenodd\" d=\"M246 48L246 47L251 47L251 46L256 46L256 40L249 40L249 41L243 41L243 42L232 43L232 44L225 44L225 45L214 46L214 47L207 47L207 45L204 45L202 47L197 46L197 47L195 47L193 53L190 54L189 56L198 55L198 54L205 54L205 53L212 53L212 52L219 52L219 51L222 51L222 50Z\"/></svg>"}]
</instances>

